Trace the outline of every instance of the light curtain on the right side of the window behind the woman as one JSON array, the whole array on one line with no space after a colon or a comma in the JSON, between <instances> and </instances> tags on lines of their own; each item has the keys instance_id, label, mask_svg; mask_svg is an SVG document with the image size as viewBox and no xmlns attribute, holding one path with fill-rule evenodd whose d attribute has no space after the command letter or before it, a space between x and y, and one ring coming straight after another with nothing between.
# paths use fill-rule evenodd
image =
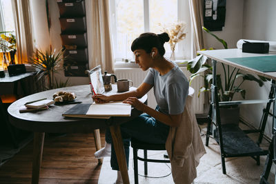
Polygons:
<instances>
[{"instance_id":1,"label":"light curtain on the right side of the window behind the woman","mask_svg":"<svg viewBox=\"0 0 276 184\"><path fill-rule=\"evenodd\" d=\"M194 57L197 50L204 48L204 39L202 26L203 24L203 8L202 0L189 0L190 5L190 17L192 19L193 26L193 50Z\"/></svg>"}]
</instances>

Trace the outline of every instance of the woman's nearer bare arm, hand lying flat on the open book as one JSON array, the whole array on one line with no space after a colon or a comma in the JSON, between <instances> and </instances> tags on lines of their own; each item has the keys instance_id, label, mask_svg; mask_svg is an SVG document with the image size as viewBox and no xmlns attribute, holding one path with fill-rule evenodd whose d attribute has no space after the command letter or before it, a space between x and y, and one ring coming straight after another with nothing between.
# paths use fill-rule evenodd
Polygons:
<instances>
[{"instance_id":1,"label":"woman's nearer bare arm, hand lying flat on the open book","mask_svg":"<svg viewBox=\"0 0 276 184\"><path fill-rule=\"evenodd\" d=\"M124 100L124 103L129 103L137 110L141 110L142 112L146 112L148 115L154 117L158 121L161 121L162 123L172 126L172 127L178 127L181 123L182 113L171 115L171 114L164 114L162 112L159 112L157 110L154 110L148 105L145 105L144 103L141 103L137 98L135 97L129 97L128 99Z\"/></svg>"}]
</instances>

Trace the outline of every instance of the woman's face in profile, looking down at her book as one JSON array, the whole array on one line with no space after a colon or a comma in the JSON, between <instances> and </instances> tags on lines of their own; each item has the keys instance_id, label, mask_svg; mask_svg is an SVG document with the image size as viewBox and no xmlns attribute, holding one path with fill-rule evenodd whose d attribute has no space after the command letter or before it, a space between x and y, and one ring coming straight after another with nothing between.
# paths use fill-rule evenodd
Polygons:
<instances>
[{"instance_id":1,"label":"woman's face in profile, looking down at her book","mask_svg":"<svg viewBox=\"0 0 276 184\"><path fill-rule=\"evenodd\" d=\"M133 54L135 54L135 63L139 65L141 70L146 71L148 68L152 67L152 58L150 54L146 53L146 50L137 49Z\"/></svg>"}]
</instances>

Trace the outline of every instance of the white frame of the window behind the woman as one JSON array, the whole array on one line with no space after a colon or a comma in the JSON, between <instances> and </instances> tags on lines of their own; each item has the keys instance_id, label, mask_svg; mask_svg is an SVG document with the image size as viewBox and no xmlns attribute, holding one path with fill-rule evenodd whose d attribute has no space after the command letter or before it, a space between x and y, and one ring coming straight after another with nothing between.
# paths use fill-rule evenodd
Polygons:
<instances>
[{"instance_id":1,"label":"white frame of the window behind the woman","mask_svg":"<svg viewBox=\"0 0 276 184\"><path fill-rule=\"evenodd\" d=\"M149 32L150 30L150 16L149 16L149 1L150 0L143 0L144 1L144 32ZM116 0L110 0L110 28L111 28L111 38L112 38L112 51L114 53L114 56L116 56L117 48L114 47L114 45L117 45L117 19L116 19L116 7L117 7L117 1ZM184 10L186 9L186 10ZM188 1L181 1L177 0L177 21L183 21L187 24L186 26L186 32L187 37L184 41L180 41L177 43L177 49L181 50L181 54L179 52L175 52L175 58L176 63L179 65L184 60L191 59L193 54L193 42L191 40L192 36L192 28L190 23L190 10ZM189 48L188 50L184 50L184 48ZM170 52L167 51L167 52ZM135 64L135 61L125 61L124 58L121 57L114 57L114 65L115 68L122 68L122 67L129 67L129 68L135 68L138 67L137 64Z\"/></svg>"}]
</instances>

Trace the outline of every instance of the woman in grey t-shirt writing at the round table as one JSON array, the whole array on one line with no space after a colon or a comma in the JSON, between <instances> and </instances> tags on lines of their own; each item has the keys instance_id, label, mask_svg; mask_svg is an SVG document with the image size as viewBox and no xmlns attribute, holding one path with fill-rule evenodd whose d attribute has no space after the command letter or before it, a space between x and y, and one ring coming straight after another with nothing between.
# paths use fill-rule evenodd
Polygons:
<instances>
[{"instance_id":1,"label":"woman in grey t-shirt writing at the round table","mask_svg":"<svg viewBox=\"0 0 276 184\"><path fill-rule=\"evenodd\" d=\"M184 112L189 86L188 80L180 68L164 58L164 43L169 40L170 37L166 32L141 34L132 42L131 50L135 54L135 63L138 63L139 68L144 71L150 69L144 82L136 90L129 92L110 96L103 94L92 96L96 103L123 101L144 112L136 119L121 125L127 163L131 137L148 143L166 143L170 127L177 127L181 123L181 114ZM157 101L155 110L138 100L152 87ZM107 136L110 139L110 133ZM113 147L111 150L112 170L119 171ZM120 182L121 178L118 172L116 183Z\"/></svg>"}]
</instances>

